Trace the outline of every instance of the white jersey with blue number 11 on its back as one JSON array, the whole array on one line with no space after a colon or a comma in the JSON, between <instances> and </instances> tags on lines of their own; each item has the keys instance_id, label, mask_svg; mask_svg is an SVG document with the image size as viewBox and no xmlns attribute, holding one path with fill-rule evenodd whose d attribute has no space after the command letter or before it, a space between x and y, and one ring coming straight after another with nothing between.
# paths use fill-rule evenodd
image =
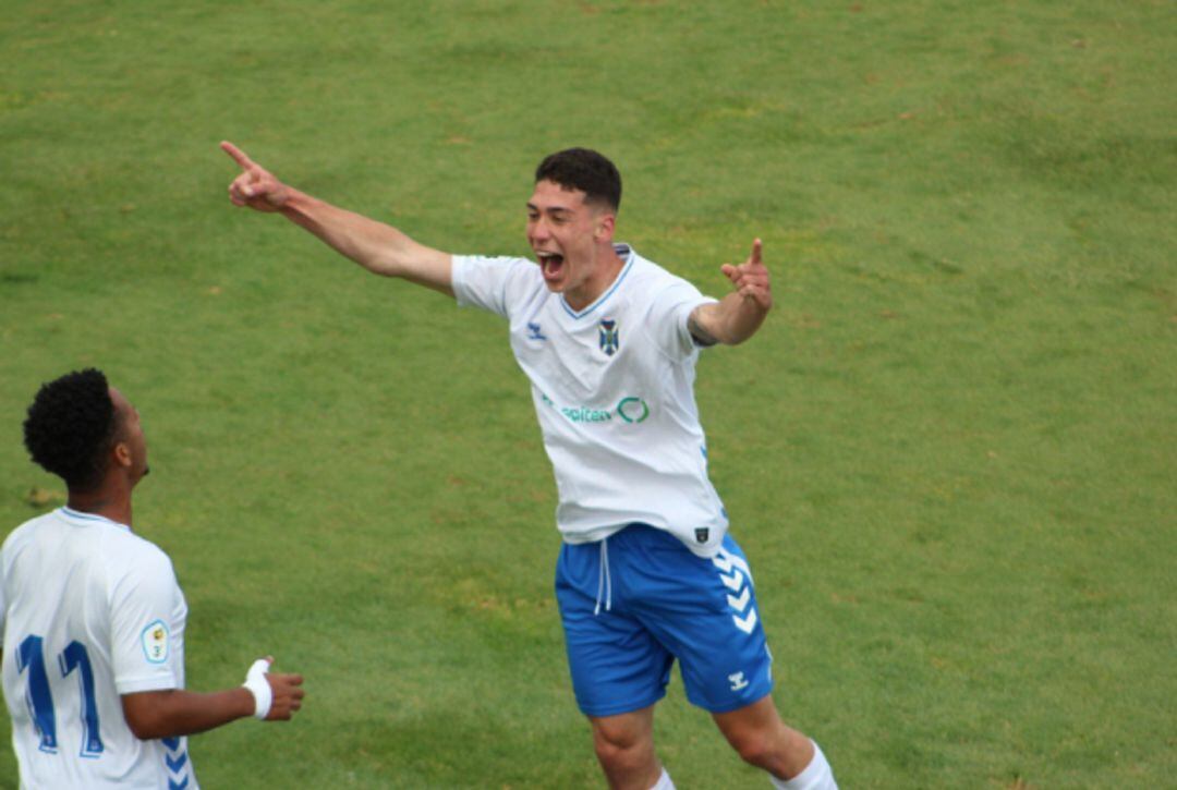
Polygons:
<instances>
[{"instance_id":1,"label":"white jersey with blue number 11 on its back","mask_svg":"<svg viewBox=\"0 0 1177 790\"><path fill-rule=\"evenodd\" d=\"M140 741L119 696L184 688L187 604L158 546L68 507L0 550L4 695L22 788L197 786L187 738Z\"/></svg>"}]
</instances>

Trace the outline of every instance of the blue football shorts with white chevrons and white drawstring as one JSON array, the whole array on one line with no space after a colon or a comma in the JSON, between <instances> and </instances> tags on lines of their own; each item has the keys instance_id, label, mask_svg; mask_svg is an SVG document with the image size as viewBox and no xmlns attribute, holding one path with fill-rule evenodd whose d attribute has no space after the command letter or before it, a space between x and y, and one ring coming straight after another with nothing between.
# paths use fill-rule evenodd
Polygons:
<instances>
[{"instance_id":1,"label":"blue football shorts with white chevrons and white drawstring","mask_svg":"<svg viewBox=\"0 0 1177 790\"><path fill-rule=\"evenodd\" d=\"M686 698L713 713L772 691L752 573L730 535L710 559L644 524L597 543L566 543L556 597L572 689L586 716L654 704L676 658Z\"/></svg>"}]
</instances>

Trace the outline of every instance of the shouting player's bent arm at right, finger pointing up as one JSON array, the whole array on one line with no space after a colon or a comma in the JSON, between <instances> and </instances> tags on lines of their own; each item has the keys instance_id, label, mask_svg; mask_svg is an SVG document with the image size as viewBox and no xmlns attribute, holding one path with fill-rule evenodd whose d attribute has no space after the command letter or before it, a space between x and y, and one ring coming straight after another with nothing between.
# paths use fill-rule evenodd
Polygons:
<instances>
[{"instance_id":1,"label":"shouting player's bent arm at right, finger pointing up","mask_svg":"<svg viewBox=\"0 0 1177 790\"><path fill-rule=\"evenodd\" d=\"M734 291L718 303L699 305L691 312L691 334L704 344L736 345L756 334L772 308L769 270L760 259L760 239L752 243L752 254L739 266L724 264L720 271Z\"/></svg>"}]
</instances>

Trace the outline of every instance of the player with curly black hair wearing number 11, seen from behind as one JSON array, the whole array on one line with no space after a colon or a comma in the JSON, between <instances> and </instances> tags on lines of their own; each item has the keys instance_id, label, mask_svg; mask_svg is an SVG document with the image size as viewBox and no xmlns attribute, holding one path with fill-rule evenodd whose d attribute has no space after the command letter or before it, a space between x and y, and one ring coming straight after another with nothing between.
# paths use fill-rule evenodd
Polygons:
<instances>
[{"instance_id":1,"label":"player with curly black hair wearing number 11, seen from behind","mask_svg":"<svg viewBox=\"0 0 1177 790\"><path fill-rule=\"evenodd\" d=\"M241 688L184 689L188 608L172 562L131 527L147 474L139 412L87 369L41 386L25 445L68 487L0 550L4 695L21 788L172 788L197 779L188 735L290 719L302 678L260 658Z\"/></svg>"}]
</instances>

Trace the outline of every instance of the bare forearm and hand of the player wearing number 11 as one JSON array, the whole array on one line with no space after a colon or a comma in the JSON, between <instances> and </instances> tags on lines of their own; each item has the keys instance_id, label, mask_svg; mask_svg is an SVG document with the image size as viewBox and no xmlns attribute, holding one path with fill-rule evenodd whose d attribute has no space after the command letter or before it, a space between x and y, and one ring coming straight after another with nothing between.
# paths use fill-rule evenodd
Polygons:
<instances>
[{"instance_id":1,"label":"bare forearm and hand of the player wearing number 11","mask_svg":"<svg viewBox=\"0 0 1177 790\"><path fill-rule=\"evenodd\" d=\"M271 702L265 721L288 721L302 706L301 675L266 673ZM258 713L257 695L241 686L211 693L166 689L121 696L122 715L141 741L195 735Z\"/></svg>"}]
</instances>

